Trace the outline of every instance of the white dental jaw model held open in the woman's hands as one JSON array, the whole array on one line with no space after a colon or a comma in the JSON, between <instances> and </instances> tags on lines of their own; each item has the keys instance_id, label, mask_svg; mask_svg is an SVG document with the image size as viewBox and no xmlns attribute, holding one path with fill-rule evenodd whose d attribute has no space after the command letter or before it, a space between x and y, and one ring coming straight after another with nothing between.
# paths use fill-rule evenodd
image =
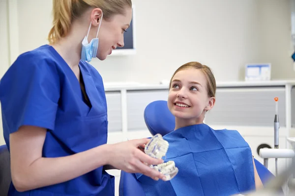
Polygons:
<instances>
[{"instance_id":1,"label":"white dental jaw model held open in the woman's hands","mask_svg":"<svg viewBox=\"0 0 295 196\"><path fill-rule=\"evenodd\" d=\"M145 152L149 156L161 159L166 155L169 143L165 141L160 134L154 135L145 147ZM156 166L150 166L154 170L163 173L166 176L166 181L171 180L178 173L178 168L175 167L174 161L168 161Z\"/></svg>"}]
</instances>

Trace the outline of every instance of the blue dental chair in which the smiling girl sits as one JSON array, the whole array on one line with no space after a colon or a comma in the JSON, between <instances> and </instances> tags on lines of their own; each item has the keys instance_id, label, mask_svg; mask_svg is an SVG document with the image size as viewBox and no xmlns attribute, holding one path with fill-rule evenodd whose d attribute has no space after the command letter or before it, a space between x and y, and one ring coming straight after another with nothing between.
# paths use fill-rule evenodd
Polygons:
<instances>
[{"instance_id":1,"label":"blue dental chair in which the smiling girl sits","mask_svg":"<svg viewBox=\"0 0 295 196\"><path fill-rule=\"evenodd\" d=\"M165 100L157 100L149 103L144 111L144 118L151 135L160 133L164 136L175 128L175 117L168 109L167 101ZM263 184L274 177L274 175L255 158L254 162ZM133 173L121 171L119 196L145 196L140 182Z\"/></svg>"}]
</instances>

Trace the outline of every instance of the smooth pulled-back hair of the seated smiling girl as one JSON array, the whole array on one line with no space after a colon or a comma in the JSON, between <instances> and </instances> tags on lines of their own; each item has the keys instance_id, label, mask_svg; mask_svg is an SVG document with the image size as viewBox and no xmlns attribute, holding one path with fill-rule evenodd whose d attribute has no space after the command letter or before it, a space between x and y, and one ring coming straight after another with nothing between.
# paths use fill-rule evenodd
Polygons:
<instances>
[{"instance_id":1,"label":"smooth pulled-back hair of the seated smiling girl","mask_svg":"<svg viewBox=\"0 0 295 196\"><path fill-rule=\"evenodd\" d=\"M169 84L169 89L171 88L171 83L172 83L172 79L175 76L175 74L181 70L185 70L185 69L189 69L189 68L194 68L194 69L198 69L201 72L203 72L207 78L207 92L208 92L208 96L209 97L215 97L215 93L216 93L216 81L215 81L215 77L212 73L212 70L206 66L206 65L202 65L199 62L189 62L186 63L184 65L181 65L173 74L173 76L171 77L170 80L170 84Z\"/></svg>"}]
</instances>

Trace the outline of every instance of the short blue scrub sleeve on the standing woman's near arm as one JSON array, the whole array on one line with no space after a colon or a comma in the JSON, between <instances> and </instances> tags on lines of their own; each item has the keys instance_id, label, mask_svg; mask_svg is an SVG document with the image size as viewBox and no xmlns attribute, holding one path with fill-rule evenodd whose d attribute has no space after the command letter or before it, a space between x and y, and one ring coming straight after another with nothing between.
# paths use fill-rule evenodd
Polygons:
<instances>
[{"instance_id":1,"label":"short blue scrub sleeve on the standing woman's near arm","mask_svg":"<svg viewBox=\"0 0 295 196\"><path fill-rule=\"evenodd\" d=\"M2 77L2 121L13 133L22 125L54 130L59 101L59 75L48 59L20 56Z\"/></svg>"}]
</instances>

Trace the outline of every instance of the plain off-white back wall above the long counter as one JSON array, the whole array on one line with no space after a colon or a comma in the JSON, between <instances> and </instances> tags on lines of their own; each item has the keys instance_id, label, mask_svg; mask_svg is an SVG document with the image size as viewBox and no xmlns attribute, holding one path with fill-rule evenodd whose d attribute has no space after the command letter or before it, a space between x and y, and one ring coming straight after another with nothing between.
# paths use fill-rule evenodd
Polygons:
<instances>
[{"instance_id":1,"label":"plain off-white back wall above the long counter","mask_svg":"<svg viewBox=\"0 0 295 196\"><path fill-rule=\"evenodd\" d=\"M24 52L47 42L52 2L17 2ZM159 82L188 61L209 65L217 81L241 80L244 65L257 62L272 63L273 79L295 78L289 0L179 2L133 0L137 54L93 60L104 81Z\"/></svg>"}]
</instances>

